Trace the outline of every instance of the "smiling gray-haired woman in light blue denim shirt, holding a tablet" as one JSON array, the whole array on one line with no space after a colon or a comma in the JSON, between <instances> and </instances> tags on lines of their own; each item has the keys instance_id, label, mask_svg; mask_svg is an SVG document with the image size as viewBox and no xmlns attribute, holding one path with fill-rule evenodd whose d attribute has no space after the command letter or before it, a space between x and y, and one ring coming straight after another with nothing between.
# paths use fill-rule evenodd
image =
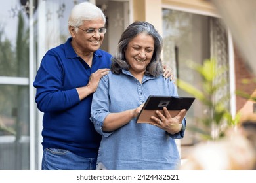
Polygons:
<instances>
[{"instance_id":1,"label":"smiling gray-haired woman in light blue denim shirt, holding a tablet","mask_svg":"<svg viewBox=\"0 0 256 183\"><path fill-rule=\"evenodd\" d=\"M111 72L93 95L91 121L102 135L98 169L177 169L175 139L184 136L184 110L171 116L158 112L154 124L136 118L149 95L177 96L173 82L162 76L163 39L148 22L134 22L121 35Z\"/></svg>"}]
</instances>

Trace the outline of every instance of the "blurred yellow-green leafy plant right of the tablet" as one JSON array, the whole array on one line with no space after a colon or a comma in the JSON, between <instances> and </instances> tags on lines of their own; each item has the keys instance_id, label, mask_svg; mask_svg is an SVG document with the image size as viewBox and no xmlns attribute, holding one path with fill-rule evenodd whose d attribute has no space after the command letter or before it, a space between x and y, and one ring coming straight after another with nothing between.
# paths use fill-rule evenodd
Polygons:
<instances>
[{"instance_id":1,"label":"blurred yellow-green leafy plant right of the tablet","mask_svg":"<svg viewBox=\"0 0 256 183\"><path fill-rule=\"evenodd\" d=\"M203 64L188 62L188 67L197 71L202 76L202 89L198 89L192 84L177 79L177 86L190 95L196 97L196 100L202 102L207 110L205 118L198 119L201 125L192 126L190 130L199 133L203 139L215 140L223 137L227 127L234 126L239 121L239 114L235 118L224 105L230 96L223 95L216 99L216 93L226 85L226 80L222 77L225 67L218 67L215 59L205 59Z\"/></svg>"}]
</instances>

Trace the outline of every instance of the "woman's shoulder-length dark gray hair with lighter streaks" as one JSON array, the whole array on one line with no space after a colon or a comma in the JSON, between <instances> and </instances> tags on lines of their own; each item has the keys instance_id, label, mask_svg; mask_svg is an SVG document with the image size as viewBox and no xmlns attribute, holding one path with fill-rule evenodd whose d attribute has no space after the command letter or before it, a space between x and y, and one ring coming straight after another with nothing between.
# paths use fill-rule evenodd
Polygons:
<instances>
[{"instance_id":1,"label":"woman's shoulder-length dark gray hair with lighter streaks","mask_svg":"<svg viewBox=\"0 0 256 183\"><path fill-rule=\"evenodd\" d=\"M112 58L111 71L113 73L121 73L121 69L129 70L130 65L125 58L125 50L129 42L140 33L152 36L154 39L154 53L145 75L159 76L163 73L163 65L161 61L161 49L163 48L163 38L156 31L155 27L148 22L133 22L125 29L117 46L116 56Z\"/></svg>"}]
</instances>

